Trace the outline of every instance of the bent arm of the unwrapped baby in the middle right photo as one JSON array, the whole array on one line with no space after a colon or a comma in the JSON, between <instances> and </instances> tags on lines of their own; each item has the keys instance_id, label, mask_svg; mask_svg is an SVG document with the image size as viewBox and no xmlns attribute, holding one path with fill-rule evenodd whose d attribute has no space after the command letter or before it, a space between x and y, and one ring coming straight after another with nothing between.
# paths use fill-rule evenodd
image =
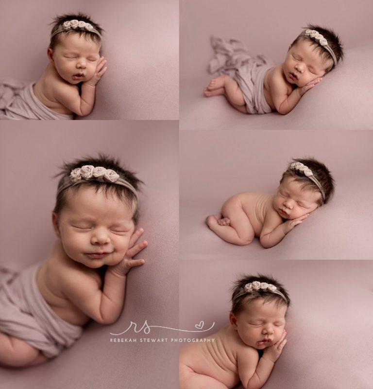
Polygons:
<instances>
[{"instance_id":1,"label":"bent arm of the unwrapped baby in the middle right photo","mask_svg":"<svg viewBox=\"0 0 373 389\"><path fill-rule=\"evenodd\" d=\"M264 220L263 229L260 233L261 245L264 248L276 246L285 238L285 235L288 232L290 232L296 225L302 223L308 215L309 213L306 213L301 217L287 220L282 223L281 217L274 209L268 210Z\"/></svg>"}]
</instances>

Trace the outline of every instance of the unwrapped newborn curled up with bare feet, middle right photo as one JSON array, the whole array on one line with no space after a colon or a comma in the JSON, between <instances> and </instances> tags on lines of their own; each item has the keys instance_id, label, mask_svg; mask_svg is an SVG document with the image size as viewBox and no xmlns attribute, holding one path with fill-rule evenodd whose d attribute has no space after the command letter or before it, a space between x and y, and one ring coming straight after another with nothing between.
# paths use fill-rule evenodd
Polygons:
<instances>
[{"instance_id":1,"label":"unwrapped newborn curled up with bare feet, middle right photo","mask_svg":"<svg viewBox=\"0 0 373 389\"><path fill-rule=\"evenodd\" d=\"M229 198L221 213L206 218L221 239L249 245L254 236L264 248L280 243L295 226L334 193L334 179L316 159L293 159L283 173L276 195L244 192Z\"/></svg>"}]
</instances>

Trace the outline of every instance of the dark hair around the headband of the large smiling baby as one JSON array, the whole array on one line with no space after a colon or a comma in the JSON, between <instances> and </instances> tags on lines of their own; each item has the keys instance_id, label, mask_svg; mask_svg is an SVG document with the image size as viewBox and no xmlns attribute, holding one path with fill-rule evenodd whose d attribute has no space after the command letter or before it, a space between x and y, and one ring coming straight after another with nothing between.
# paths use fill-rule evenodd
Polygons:
<instances>
[{"instance_id":1,"label":"dark hair around the headband of the large smiling baby","mask_svg":"<svg viewBox=\"0 0 373 389\"><path fill-rule=\"evenodd\" d=\"M85 165L92 165L95 167L102 166L105 169L114 170L117 174L119 174L120 178L125 179L127 182L129 182L136 189L136 191L138 191L140 184L143 184L143 182L136 177L135 175L136 173L131 172L130 170L126 170L120 165L119 159L114 159L99 153L98 158L85 157L82 159L75 159L72 162L64 162L63 166L61 167L61 172L58 173L56 176L54 176L54 177L62 176L58 182L58 189L65 185L66 177L70 176L71 170L80 168ZM130 189L122 185L118 185L106 181L101 182L101 181L94 181L94 180L82 180L82 182L79 185L71 186L68 189L63 190L62 192L57 191L58 194L57 194L56 204L54 206L53 212L57 214L61 212L61 210L66 205L68 194L76 193L79 190L79 188L82 186L93 187L96 193L102 190L105 196L116 195L121 201L123 201L131 208L135 204L136 209L134 211L132 219L135 224L137 223L138 206L137 206L136 196L134 195L134 193Z\"/></svg>"}]
</instances>

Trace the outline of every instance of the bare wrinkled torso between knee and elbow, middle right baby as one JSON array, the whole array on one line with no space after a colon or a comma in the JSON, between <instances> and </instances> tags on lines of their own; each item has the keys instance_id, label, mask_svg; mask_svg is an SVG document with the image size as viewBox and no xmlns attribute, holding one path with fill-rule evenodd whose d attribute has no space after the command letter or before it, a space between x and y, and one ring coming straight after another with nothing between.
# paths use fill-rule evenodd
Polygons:
<instances>
[{"instance_id":1,"label":"bare wrinkled torso between knee and elbow, middle right baby","mask_svg":"<svg viewBox=\"0 0 373 389\"><path fill-rule=\"evenodd\" d=\"M255 236L259 237L267 212L272 207L274 196L259 192L244 192L237 196L243 211L247 214L253 226Z\"/></svg>"}]
</instances>

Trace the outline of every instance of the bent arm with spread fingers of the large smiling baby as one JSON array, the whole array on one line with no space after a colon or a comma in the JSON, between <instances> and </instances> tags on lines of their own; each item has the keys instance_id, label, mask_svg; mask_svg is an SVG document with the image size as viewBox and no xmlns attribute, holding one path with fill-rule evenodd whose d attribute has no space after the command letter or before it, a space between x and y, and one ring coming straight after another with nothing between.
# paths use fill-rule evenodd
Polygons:
<instances>
[{"instance_id":1,"label":"bent arm with spread fingers of the large smiling baby","mask_svg":"<svg viewBox=\"0 0 373 389\"><path fill-rule=\"evenodd\" d=\"M145 262L143 259L132 259L148 245L146 241L135 245L142 233L142 229L137 230L131 237L123 260L107 268L102 291L93 279L79 283L74 277L64 277L64 294L85 315L98 323L111 324L119 318L124 302L126 275L132 267Z\"/></svg>"}]
</instances>

